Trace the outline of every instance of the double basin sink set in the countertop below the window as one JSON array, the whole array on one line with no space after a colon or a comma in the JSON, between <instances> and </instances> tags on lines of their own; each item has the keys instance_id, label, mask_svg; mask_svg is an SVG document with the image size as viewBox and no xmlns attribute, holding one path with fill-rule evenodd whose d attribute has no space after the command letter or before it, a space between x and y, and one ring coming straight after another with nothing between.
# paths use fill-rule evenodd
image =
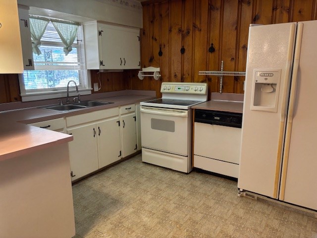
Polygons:
<instances>
[{"instance_id":1,"label":"double basin sink set in the countertop below the window","mask_svg":"<svg viewBox=\"0 0 317 238\"><path fill-rule=\"evenodd\" d=\"M99 102L99 101L82 101L82 102L73 103L73 104L41 107L41 109L53 110L53 111L58 111L58 112L67 112L67 111L72 111L72 110L79 110L79 109L103 106L103 105L107 105L107 104L111 104L111 103L110 102Z\"/></svg>"}]
</instances>

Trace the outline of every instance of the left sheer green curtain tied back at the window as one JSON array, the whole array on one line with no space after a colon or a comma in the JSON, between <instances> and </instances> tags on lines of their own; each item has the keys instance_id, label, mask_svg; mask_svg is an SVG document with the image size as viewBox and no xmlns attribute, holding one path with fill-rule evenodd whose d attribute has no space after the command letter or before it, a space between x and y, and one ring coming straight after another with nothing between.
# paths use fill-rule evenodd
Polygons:
<instances>
[{"instance_id":1,"label":"left sheer green curtain tied back at the window","mask_svg":"<svg viewBox=\"0 0 317 238\"><path fill-rule=\"evenodd\" d=\"M41 46L41 38L45 32L50 20L46 18L30 17L30 30L32 38L32 50L34 54L41 55L39 47Z\"/></svg>"}]
</instances>

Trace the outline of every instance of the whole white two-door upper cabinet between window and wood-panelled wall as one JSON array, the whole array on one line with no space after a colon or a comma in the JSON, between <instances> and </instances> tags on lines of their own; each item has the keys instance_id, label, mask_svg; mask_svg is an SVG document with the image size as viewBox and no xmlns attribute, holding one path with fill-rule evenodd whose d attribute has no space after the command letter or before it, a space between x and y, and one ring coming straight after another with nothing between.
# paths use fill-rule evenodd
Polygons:
<instances>
[{"instance_id":1,"label":"whole white two-door upper cabinet between window and wood-panelled wall","mask_svg":"<svg viewBox=\"0 0 317 238\"><path fill-rule=\"evenodd\" d=\"M87 69L140 68L139 29L84 23Z\"/></svg>"}]
</instances>

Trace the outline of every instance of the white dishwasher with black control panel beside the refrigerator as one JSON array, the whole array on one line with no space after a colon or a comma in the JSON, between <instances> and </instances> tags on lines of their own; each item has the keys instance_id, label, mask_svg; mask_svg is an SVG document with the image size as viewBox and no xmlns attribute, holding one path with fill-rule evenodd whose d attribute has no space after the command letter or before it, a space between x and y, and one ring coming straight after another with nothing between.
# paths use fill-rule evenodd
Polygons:
<instances>
[{"instance_id":1,"label":"white dishwasher with black control panel beside the refrigerator","mask_svg":"<svg viewBox=\"0 0 317 238\"><path fill-rule=\"evenodd\" d=\"M195 110L194 167L238 178L242 113Z\"/></svg>"}]
</instances>

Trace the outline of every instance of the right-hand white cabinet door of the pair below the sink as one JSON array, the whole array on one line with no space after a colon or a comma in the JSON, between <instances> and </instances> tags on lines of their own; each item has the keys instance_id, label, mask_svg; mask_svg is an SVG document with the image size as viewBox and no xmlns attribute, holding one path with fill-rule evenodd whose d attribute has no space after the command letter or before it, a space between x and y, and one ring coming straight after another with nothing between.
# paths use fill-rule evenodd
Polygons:
<instances>
[{"instance_id":1,"label":"right-hand white cabinet door of the pair below the sink","mask_svg":"<svg viewBox=\"0 0 317 238\"><path fill-rule=\"evenodd\" d=\"M121 159L119 118L97 123L99 168Z\"/></svg>"}]
</instances>

